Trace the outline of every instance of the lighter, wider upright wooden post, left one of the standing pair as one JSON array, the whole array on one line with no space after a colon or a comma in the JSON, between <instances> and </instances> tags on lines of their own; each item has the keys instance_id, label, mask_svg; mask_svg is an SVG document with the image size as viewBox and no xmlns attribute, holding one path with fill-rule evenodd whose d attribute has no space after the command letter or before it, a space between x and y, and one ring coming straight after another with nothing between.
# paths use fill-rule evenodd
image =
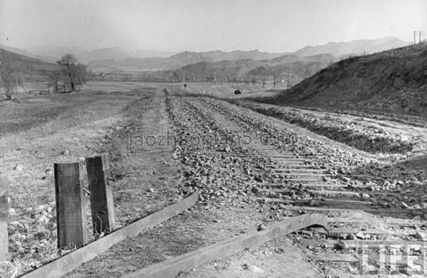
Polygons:
<instances>
[{"instance_id":1,"label":"lighter, wider upright wooden post, left one of the standing pair","mask_svg":"<svg viewBox=\"0 0 427 278\"><path fill-rule=\"evenodd\" d=\"M85 199L78 162L53 164L55 172L58 248L81 246L88 240Z\"/></svg>"}]
</instances>

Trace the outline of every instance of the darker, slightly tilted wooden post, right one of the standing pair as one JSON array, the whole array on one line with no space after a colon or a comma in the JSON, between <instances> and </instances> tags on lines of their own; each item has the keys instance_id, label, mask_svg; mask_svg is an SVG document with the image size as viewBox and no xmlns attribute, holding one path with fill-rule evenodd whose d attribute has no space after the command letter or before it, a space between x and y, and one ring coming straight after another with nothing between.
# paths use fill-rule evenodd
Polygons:
<instances>
[{"instance_id":1,"label":"darker, slightly tilted wooden post, right one of the standing pair","mask_svg":"<svg viewBox=\"0 0 427 278\"><path fill-rule=\"evenodd\" d=\"M90 189L90 209L92 210L95 233L111 232L115 226L114 203L110 178L110 162L107 154L86 158Z\"/></svg>"}]
</instances>

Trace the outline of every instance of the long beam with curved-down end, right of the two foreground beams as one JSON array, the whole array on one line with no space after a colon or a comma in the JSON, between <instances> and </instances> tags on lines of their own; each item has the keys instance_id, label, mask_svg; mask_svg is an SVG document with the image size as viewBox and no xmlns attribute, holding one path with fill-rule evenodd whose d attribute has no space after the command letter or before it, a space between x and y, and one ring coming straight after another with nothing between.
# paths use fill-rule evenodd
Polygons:
<instances>
[{"instance_id":1,"label":"long beam with curved-down end, right of the two foreground beams","mask_svg":"<svg viewBox=\"0 0 427 278\"><path fill-rule=\"evenodd\" d=\"M194 250L187 254L175 257L171 260L154 264L151 267L140 269L137 272L127 274L124 277L152 277L152 278L169 278L176 277L180 272L189 271L211 260L228 257L241 252L249 247L261 245L269 240L281 237L290 232L295 232L311 225L326 225L327 217L325 215L300 215L295 218L277 223L272 227L261 230L260 232L250 232L247 235L233 237L228 240L217 242L214 245Z\"/></svg>"}]
</instances>

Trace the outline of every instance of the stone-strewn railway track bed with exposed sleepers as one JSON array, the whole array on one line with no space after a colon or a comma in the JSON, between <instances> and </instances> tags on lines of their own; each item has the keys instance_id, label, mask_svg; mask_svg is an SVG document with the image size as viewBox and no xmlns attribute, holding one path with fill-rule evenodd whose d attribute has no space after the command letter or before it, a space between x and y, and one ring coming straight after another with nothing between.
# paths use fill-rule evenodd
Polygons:
<instances>
[{"instance_id":1,"label":"stone-strewn railway track bed with exposed sleepers","mask_svg":"<svg viewBox=\"0 0 427 278\"><path fill-rule=\"evenodd\" d=\"M181 196L199 191L199 203L65 277L132 277L157 262L312 213L327 216L327 225L285 235L256 252L286 246L304 261L300 274L312 269L309 277L421 274L413 265L423 262L427 206L422 195L402 194L404 185L373 186L358 178L372 154L342 149L317 134L179 87L164 90L164 107L174 137L171 156L181 163L178 190ZM217 264L236 268L237 258L248 252L180 275L205 277ZM395 262L398 255L403 259Z\"/></svg>"}]
</instances>

